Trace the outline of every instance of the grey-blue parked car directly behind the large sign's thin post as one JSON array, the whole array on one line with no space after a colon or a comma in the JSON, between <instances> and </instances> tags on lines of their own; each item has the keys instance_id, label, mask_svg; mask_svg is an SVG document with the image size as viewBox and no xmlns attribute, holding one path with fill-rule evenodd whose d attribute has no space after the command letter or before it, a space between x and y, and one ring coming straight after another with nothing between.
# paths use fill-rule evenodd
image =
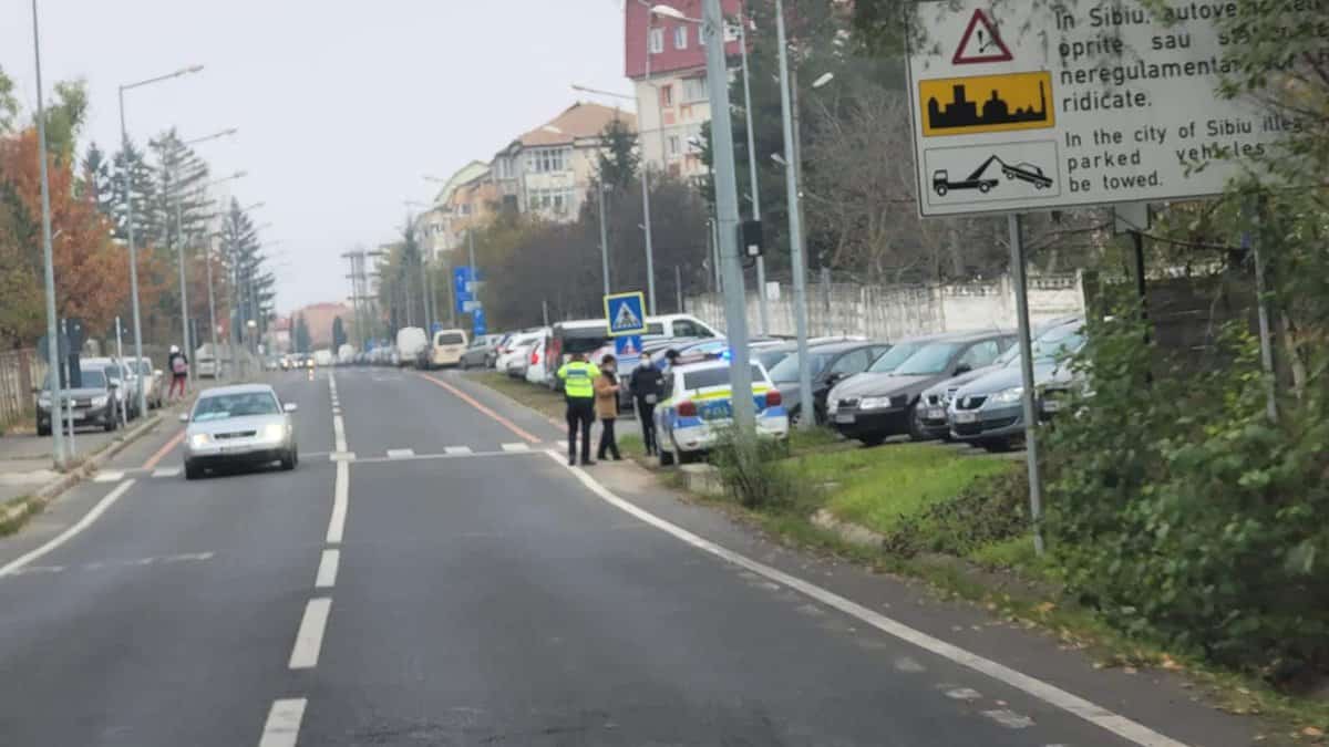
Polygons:
<instances>
[{"instance_id":1,"label":"grey-blue parked car directly behind the large sign's thin post","mask_svg":"<svg viewBox=\"0 0 1329 747\"><path fill-rule=\"evenodd\" d=\"M1069 380L1066 359L1084 347L1084 324L1054 327L1033 342L1034 387ZM987 451L1006 451L1025 436L1025 377L1014 362L956 391L949 404L950 435Z\"/></svg>"}]
</instances>

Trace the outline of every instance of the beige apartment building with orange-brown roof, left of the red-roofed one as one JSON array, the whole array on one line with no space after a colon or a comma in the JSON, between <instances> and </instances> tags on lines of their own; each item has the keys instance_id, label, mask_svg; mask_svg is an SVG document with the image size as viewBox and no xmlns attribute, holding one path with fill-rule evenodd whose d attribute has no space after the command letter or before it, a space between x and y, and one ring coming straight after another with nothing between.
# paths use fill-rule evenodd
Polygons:
<instances>
[{"instance_id":1,"label":"beige apartment building with orange-brown roof, left of the red-roofed one","mask_svg":"<svg viewBox=\"0 0 1329 747\"><path fill-rule=\"evenodd\" d=\"M630 112L577 102L513 140L490 165L496 202L549 221L577 219L595 177L601 134L614 120L637 129Z\"/></svg>"}]
</instances>

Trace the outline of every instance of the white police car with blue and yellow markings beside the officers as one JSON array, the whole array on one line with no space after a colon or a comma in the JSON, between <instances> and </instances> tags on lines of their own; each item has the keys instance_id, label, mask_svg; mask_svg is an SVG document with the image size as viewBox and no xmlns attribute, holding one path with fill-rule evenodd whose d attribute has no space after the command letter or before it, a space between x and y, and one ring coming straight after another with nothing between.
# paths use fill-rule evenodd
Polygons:
<instances>
[{"instance_id":1,"label":"white police car with blue and yellow markings beside the officers","mask_svg":"<svg viewBox=\"0 0 1329 747\"><path fill-rule=\"evenodd\" d=\"M703 360L670 368L664 372L663 396L655 407L661 464L694 461L714 447L720 432L732 423L730 362ZM789 416L760 363L752 363L752 401L758 436L787 439Z\"/></svg>"}]
</instances>

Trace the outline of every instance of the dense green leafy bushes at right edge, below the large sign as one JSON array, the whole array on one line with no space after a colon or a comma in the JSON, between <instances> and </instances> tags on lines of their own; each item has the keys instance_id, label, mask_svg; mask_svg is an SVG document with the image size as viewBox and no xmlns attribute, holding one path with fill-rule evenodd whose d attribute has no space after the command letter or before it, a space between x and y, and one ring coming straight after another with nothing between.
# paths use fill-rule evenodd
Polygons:
<instances>
[{"instance_id":1,"label":"dense green leafy bushes at right edge, below the large sign","mask_svg":"<svg viewBox=\"0 0 1329 747\"><path fill-rule=\"evenodd\" d=\"M1094 396L1049 441L1050 538L1067 586L1127 631L1235 667L1329 667L1329 419L1322 383L1265 416L1257 344L1150 381L1131 312L1091 330Z\"/></svg>"}]
</instances>

